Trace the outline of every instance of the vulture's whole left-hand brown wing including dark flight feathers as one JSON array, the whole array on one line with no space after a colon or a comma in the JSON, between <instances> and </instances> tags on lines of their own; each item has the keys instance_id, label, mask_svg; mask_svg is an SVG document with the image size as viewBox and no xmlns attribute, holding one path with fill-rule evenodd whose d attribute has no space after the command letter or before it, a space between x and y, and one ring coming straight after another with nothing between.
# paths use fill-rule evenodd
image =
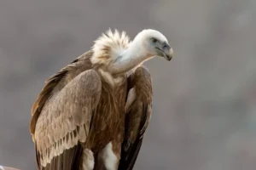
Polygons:
<instances>
[{"instance_id":1,"label":"vulture's whole left-hand brown wing including dark flight feathers","mask_svg":"<svg viewBox=\"0 0 256 170\"><path fill-rule=\"evenodd\" d=\"M51 77L33 105L31 132L39 169L78 166L102 89L96 71L79 66L82 60Z\"/></svg>"}]
</instances>

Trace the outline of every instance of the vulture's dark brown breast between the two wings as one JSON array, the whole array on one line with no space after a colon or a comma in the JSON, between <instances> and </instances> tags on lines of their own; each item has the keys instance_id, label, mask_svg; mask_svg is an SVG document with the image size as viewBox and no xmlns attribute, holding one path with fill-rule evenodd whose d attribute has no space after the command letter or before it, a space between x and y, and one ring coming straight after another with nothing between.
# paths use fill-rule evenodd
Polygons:
<instances>
[{"instance_id":1,"label":"vulture's dark brown breast between the two wings","mask_svg":"<svg viewBox=\"0 0 256 170\"><path fill-rule=\"evenodd\" d=\"M101 99L91 122L89 143L93 152L102 150L112 140L123 141L126 95L126 78L114 87L102 81Z\"/></svg>"}]
</instances>

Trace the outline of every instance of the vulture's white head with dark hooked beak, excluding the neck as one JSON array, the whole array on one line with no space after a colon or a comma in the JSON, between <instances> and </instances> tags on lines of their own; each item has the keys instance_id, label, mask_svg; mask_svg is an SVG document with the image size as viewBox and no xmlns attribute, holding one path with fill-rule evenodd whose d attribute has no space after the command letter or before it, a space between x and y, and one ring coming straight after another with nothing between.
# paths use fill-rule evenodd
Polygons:
<instances>
[{"instance_id":1,"label":"vulture's white head with dark hooked beak, excluding the neck","mask_svg":"<svg viewBox=\"0 0 256 170\"><path fill-rule=\"evenodd\" d=\"M132 45L142 47L143 52L149 56L160 56L167 60L172 59L173 50L167 38L160 31L143 30L134 38Z\"/></svg>"}]
</instances>

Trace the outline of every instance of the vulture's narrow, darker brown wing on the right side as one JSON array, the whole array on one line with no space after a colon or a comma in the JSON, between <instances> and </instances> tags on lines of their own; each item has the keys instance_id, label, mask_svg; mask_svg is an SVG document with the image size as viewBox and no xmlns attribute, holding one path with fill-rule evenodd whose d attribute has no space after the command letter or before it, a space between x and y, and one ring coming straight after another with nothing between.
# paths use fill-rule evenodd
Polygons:
<instances>
[{"instance_id":1,"label":"vulture's narrow, darker brown wing on the right side","mask_svg":"<svg viewBox=\"0 0 256 170\"><path fill-rule=\"evenodd\" d=\"M128 90L134 89L135 100L127 109L125 117L125 141L122 145L119 170L131 170L143 143L152 112L152 82L148 70L137 67L128 77Z\"/></svg>"}]
</instances>

